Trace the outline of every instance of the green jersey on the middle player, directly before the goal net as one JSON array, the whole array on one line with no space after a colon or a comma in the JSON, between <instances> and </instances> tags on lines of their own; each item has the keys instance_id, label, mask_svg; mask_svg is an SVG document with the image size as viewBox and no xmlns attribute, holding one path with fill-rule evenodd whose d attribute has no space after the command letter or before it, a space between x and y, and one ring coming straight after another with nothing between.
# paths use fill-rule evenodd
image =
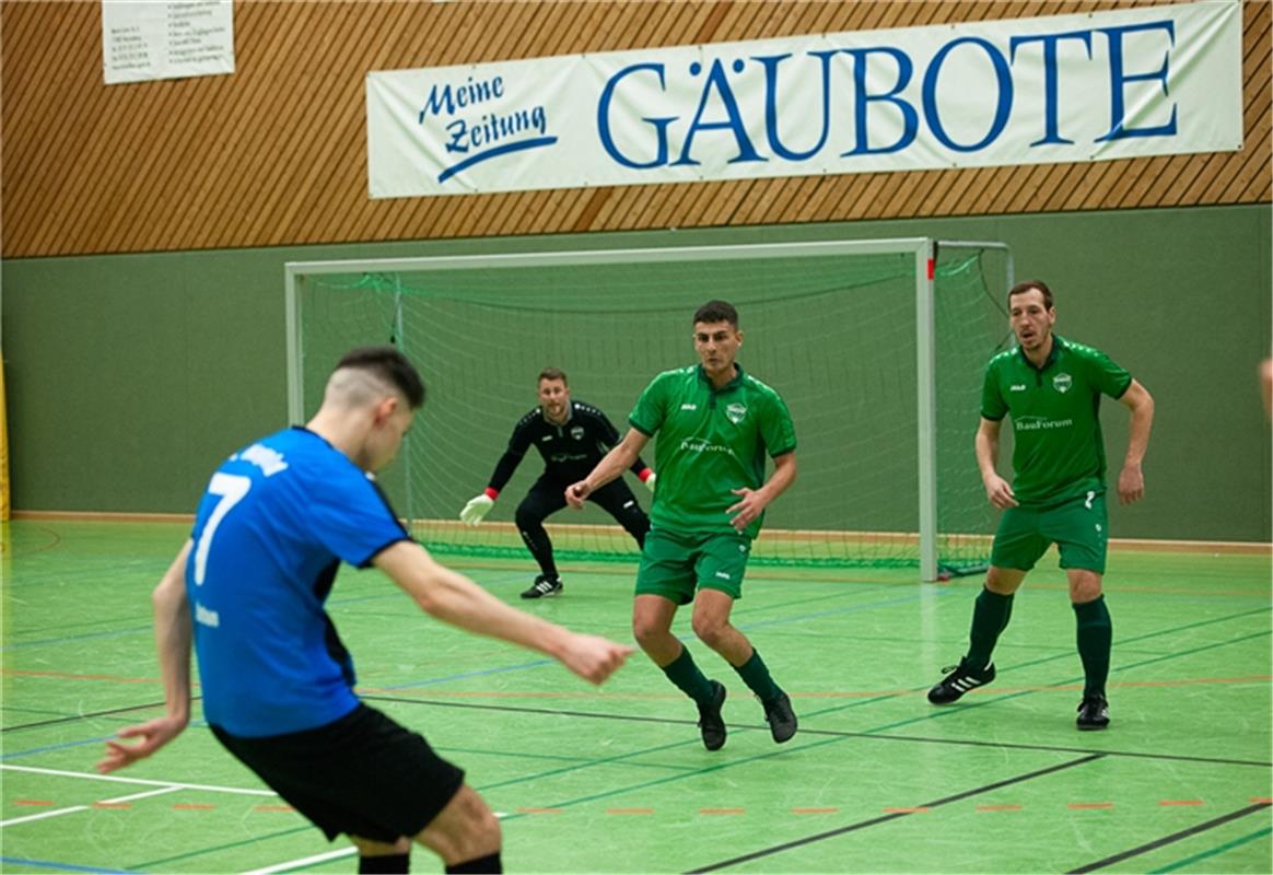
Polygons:
<instances>
[{"instance_id":1,"label":"green jersey on the middle player, directly before the goal net","mask_svg":"<svg viewBox=\"0 0 1273 875\"><path fill-rule=\"evenodd\" d=\"M715 390L703 366L665 371L636 400L631 427L658 434L658 487L651 522L681 532L731 532L726 509L738 502L732 489L765 483L765 455L796 450L796 425L787 404L751 374L738 373ZM755 537L764 515L743 532Z\"/></svg>"}]
</instances>

